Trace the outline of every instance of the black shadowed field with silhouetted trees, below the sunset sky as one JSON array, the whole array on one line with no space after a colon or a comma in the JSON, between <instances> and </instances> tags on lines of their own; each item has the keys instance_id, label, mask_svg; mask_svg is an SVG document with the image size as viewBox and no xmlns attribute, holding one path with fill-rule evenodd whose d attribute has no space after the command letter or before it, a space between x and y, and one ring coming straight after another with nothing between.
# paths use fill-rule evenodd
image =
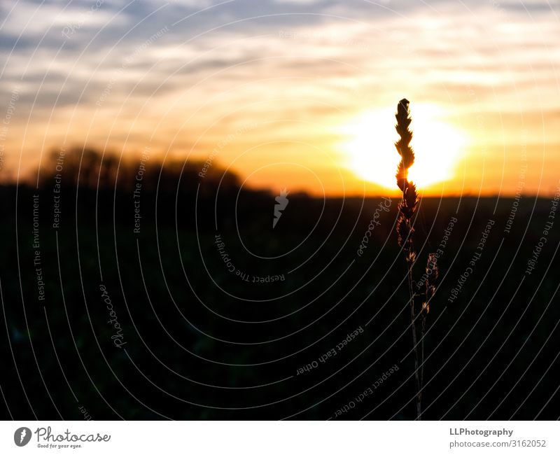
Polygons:
<instances>
[{"instance_id":1,"label":"black shadowed field with silhouetted trees, below the sunset sky","mask_svg":"<svg viewBox=\"0 0 560 455\"><path fill-rule=\"evenodd\" d=\"M59 187L51 162L0 188L3 419L415 418L397 199L290 194L273 229L276 195L230 174L150 163L134 198L137 165L87 156L79 186L70 155ZM442 251L423 419L559 418L552 207L421 200L416 280Z\"/></svg>"}]
</instances>

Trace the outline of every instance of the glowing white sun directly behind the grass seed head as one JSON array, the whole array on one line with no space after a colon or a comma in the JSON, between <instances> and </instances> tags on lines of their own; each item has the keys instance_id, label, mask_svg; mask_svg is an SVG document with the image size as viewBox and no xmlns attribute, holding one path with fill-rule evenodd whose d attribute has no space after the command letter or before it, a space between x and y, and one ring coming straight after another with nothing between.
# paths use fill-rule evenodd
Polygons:
<instances>
[{"instance_id":1,"label":"glowing white sun directly behind the grass seed head","mask_svg":"<svg viewBox=\"0 0 560 455\"><path fill-rule=\"evenodd\" d=\"M463 157L465 135L442 120L442 111L427 104L411 105L411 146L416 159L409 180L425 189L454 176ZM395 172L400 157L395 149L395 108L366 111L342 127L345 167L360 179L396 188Z\"/></svg>"}]
</instances>

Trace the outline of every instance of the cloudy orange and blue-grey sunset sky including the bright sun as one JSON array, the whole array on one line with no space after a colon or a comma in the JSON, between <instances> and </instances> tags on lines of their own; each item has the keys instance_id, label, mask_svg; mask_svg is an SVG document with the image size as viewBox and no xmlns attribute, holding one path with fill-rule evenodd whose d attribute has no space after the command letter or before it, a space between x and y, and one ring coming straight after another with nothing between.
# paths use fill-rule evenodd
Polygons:
<instances>
[{"instance_id":1,"label":"cloudy orange and blue-grey sunset sky including the bright sun","mask_svg":"<svg viewBox=\"0 0 560 455\"><path fill-rule=\"evenodd\" d=\"M424 194L550 195L559 18L557 0L3 0L0 179L88 146L386 193L406 97Z\"/></svg>"}]
</instances>

